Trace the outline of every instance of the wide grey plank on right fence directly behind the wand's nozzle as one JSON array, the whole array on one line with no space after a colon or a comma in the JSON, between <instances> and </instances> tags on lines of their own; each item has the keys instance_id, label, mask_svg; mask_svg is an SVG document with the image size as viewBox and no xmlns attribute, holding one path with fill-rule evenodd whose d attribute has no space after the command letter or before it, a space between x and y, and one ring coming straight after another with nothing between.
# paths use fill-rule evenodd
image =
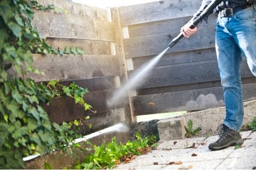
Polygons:
<instances>
[{"instance_id":1,"label":"wide grey plank on right fence directly behind the wand's nozzle","mask_svg":"<svg viewBox=\"0 0 256 170\"><path fill-rule=\"evenodd\" d=\"M167 53L215 47L214 29L215 27L201 28L200 31L189 39L181 39L173 48L169 48ZM173 35L176 37L179 33L180 30L177 30ZM125 57L131 58L160 54L168 47L171 40L172 38L169 38L167 34L124 39Z\"/></svg>"}]
</instances>

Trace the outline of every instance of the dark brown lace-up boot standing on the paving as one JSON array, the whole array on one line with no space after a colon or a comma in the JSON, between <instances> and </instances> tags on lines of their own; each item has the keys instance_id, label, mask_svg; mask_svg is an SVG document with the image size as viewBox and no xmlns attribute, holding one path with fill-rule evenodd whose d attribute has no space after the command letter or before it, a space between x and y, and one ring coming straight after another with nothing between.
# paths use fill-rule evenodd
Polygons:
<instances>
[{"instance_id":1,"label":"dark brown lace-up boot standing on the paving","mask_svg":"<svg viewBox=\"0 0 256 170\"><path fill-rule=\"evenodd\" d=\"M236 144L241 145L244 142L239 132L228 128L224 124L219 125L217 130L219 130L219 139L209 144L209 150L221 150Z\"/></svg>"}]
</instances>

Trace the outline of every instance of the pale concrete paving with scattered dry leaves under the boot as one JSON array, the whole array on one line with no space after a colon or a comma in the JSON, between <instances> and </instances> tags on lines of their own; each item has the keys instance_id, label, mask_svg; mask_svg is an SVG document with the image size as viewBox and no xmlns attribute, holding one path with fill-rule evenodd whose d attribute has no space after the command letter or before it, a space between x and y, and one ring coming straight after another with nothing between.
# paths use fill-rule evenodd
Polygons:
<instances>
[{"instance_id":1,"label":"pale concrete paving with scattered dry leaves under the boot","mask_svg":"<svg viewBox=\"0 0 256 170\"><path fill-rule=\"evenodd\" d=\"M256 169L256 132L241 133L241 148L228 147L210 151L208 145L218 136L196 137L158 142L157 150L138 156L131 163L119 164L115 169ZM195 143L194 148L193 143Z\"/></svg>"}]
</instances>

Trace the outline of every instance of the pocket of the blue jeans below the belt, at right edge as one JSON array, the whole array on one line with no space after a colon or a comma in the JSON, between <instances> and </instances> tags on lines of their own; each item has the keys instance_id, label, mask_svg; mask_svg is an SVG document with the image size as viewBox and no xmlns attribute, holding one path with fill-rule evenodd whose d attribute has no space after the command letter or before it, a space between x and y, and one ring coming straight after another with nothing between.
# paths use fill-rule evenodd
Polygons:
<instances>
[{"instance_id":1,"label":"pocket of the blue jeans below the belt, at right edge","mask_svg":"<svg viewBox=\"0 0 256 170\"><path fill-rule=\"evenodd\" d=\"M253 10L252 7L238 11L234 15L234 18L238 21L255 20L255 17L255 11Z\"/></svg>"}]
</instances>

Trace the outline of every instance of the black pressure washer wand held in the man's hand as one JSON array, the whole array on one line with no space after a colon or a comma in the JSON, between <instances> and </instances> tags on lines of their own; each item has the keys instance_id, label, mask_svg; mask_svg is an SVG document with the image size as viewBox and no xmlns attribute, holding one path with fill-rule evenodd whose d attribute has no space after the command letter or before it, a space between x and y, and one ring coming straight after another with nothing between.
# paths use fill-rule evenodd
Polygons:
<instances>
[{"instance_id":1,"label":"black pressure washer wand held in the man's hand","mask_svg":"<svg viewBox=\"0 0 256 170\"><path fill-rule=\"evenodd\" d=\"M212 2L201 12L201 14L192 21L191 26L189 28L195 28L205 17L208 16L209 13L213 11L213 9L221 3L222 0L212 0ZM183 33L181 32L177 37L175 37L168 45L169 47L173 47L177 42L182 38Z\"/></svg>"}]
</instances>

